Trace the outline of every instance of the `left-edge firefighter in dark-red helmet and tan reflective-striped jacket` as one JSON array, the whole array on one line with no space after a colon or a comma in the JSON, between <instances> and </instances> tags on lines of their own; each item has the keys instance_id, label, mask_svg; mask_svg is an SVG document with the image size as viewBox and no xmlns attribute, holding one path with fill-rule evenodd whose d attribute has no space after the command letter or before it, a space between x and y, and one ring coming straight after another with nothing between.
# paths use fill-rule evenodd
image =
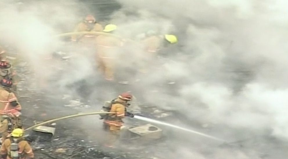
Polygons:
<instances>
[{"instance_id":1,"label":"left-edge firefighter in dark-red helmet and tan reflective-striped jacket","mask_svg":"<svg viewBox=\"0 0 288 159\"><path fill-rule=\"evenodd\" d=\"M13 92L9 92L12 86L10 78L0 80L0 116L10 115L19 117L21 115L21 105Z\"/></svg>"}]
</instances>

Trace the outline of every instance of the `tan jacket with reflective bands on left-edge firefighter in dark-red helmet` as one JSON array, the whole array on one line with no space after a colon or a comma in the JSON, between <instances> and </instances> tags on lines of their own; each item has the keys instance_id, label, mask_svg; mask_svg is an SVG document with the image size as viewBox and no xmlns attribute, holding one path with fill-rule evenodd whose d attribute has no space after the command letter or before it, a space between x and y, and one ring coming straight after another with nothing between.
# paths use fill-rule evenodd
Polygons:
<instances>
[{"instance_id":1,"label":"tan jacket with reflective bands on left-edge firefighter in dark-red helmet","mask_svg":"<svg viewBox=\"0 0 288 159\"><path fill-rule=\"evenodd\" d=\"M17 103L17 106L13 104ZM13 92L8 92L4 88L0 88L0 114L17 116L21 110L21 105Z\"/></svg>"}]
</instances>

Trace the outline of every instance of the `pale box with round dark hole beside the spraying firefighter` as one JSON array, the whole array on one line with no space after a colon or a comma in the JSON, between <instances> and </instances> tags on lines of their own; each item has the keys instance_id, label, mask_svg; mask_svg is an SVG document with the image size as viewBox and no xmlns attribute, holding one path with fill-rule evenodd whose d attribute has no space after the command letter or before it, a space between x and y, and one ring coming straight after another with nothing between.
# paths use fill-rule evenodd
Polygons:
<instances>
[{"instance_id":1,"label":"pale box with round dark hole beside the spraying firefighter","mask_svg":"<svg viewBox=\"0 0 288 159\"><path fill-rule=\"evenodd\" d=\"M162 136L162 130L152 124L133 127L128 131L144 139L159 139Z\"/></svg>"}]
</instances>

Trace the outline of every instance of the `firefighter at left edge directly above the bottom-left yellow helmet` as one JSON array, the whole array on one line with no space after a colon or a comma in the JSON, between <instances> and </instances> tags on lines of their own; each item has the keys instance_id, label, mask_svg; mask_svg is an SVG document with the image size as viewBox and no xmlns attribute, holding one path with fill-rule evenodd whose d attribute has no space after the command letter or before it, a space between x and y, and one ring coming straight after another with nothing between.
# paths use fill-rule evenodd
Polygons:
<instances>
[{"instance_id":1,"label":"firefighter at left edge directly above the bottom-left yellow helmet","mask_svg":"<svg viewBox=\"0 0 288 159\"><path fill-rule=\"evenodd\" d=\"M12 130L16 128L22 128L22 122L19 117L11 116L11 115L1 115L0 117L0 133L1 133L1 140L0 142L3 143L6 138L9 137Z\"/></svg>"}]
</instances>

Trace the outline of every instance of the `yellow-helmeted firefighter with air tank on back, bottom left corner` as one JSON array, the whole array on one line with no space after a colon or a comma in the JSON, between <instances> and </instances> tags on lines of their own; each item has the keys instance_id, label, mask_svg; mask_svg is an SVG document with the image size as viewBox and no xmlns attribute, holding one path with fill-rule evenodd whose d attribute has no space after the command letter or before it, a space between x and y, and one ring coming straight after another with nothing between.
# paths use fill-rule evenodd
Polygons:
<instances>
[{"instance_id":1,"label":"yellow-helmeted firefighter with air tank on back, bottom left corner","mask_svg":"<svg viewBox=\"0 0 288 159\"><path fill-rule=\"evenodd\" d=\"M22 129L14 129L11 137L1 145L1 159L33 159L34 153L29 143L23 138Z\"/></svg>"}]
</instances>

